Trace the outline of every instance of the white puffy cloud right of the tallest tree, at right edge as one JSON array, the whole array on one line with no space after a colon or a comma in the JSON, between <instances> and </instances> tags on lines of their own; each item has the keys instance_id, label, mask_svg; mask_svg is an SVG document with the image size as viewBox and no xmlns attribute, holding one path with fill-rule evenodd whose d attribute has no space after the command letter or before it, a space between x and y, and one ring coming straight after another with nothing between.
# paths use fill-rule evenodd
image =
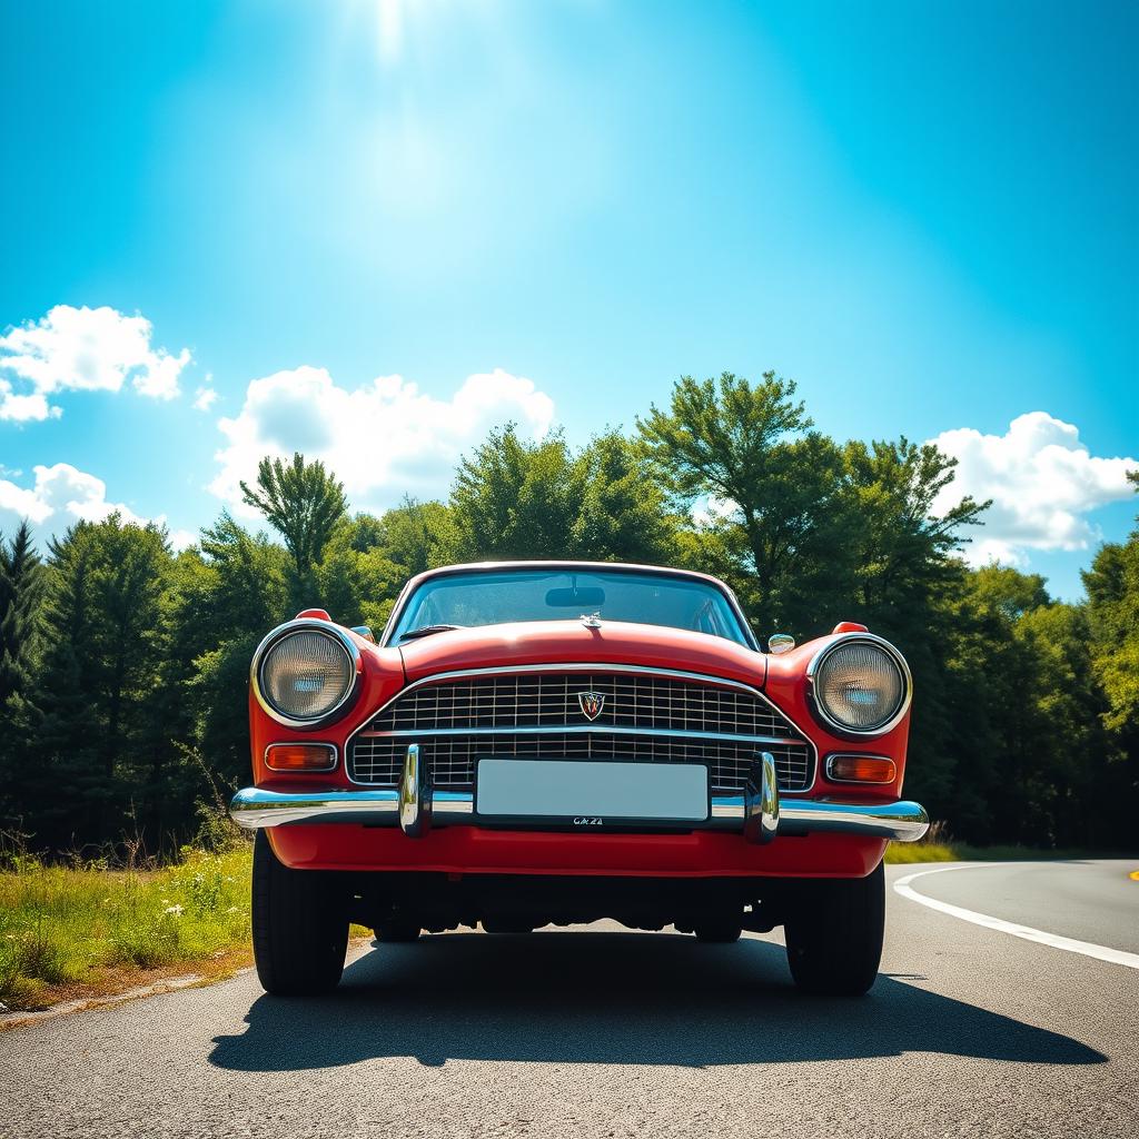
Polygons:
<instances>
[{"instance_id":1,"label":"white puffy cloud right of the tallest tree, at right edge","mask_svg":"<svg viewBox=\"0 0 1139 1139\"><path fill-rule=\"evenodd\" d=\"M1090 454L1073 424L1044 411L1018 416L1003 435L960 427L932 442L958 460L935 510L965 494L993 500L966 548L973 565L1024 565L1027 550L1087 549L1101 533L1084 515L1130 498L1126 473L1139 467L1136 459Z\"/></svg>"}]
</instances>

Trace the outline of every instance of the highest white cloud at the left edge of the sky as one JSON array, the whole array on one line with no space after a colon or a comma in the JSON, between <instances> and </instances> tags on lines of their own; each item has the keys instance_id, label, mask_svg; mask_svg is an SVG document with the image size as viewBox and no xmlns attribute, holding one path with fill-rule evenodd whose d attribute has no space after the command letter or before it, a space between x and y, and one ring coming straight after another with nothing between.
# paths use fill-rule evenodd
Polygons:
<instances>
[{"instance_id":1,"label":"highest white cloud at the left edge of the sky","mask_svg":"<svg viewBox=\"0 0 1139 1139\"><path fill-rule=\"evenodd\" d=\"M117 392L130 379L140 395L172 400L190 350L177 355L151 346L150 321L109 308L56 305L46 317L0 336L0 369L27 386L0 379L0 419L19 421L60 415L54 392Z\"/></svg>"}]
</instances>

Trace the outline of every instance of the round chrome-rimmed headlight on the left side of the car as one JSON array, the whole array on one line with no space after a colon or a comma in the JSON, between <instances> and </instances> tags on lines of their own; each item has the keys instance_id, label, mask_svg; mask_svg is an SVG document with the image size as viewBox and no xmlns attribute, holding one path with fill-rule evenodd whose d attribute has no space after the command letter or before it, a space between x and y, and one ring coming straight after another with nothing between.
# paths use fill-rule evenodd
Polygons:
<instances>
[{"instance_id":1,"label":"round chrome-rimmed headlight on the left side of the car","mask_svg":"<svg viewBox=\"0 0 1139 1139\"><path fill-rule=\"evenodd\" d=\"M308 622L281 625L253 658L254 693L281 723L326 720L352 695L359 654L346 638Z\"/></svg>"}]
</instances>

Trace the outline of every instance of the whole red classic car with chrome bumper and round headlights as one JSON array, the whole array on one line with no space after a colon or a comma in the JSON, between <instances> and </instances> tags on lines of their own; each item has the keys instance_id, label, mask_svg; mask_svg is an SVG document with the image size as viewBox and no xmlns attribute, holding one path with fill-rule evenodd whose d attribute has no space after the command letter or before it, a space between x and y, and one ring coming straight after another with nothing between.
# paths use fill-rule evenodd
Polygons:
<instances>
[{"instance_id":1,"label":"whole red classic car with chrome bumper and round headlights","mask_svg":"<svg viewBox=\"0 0 1139 1139\"><path fill-rule=\"evenodd\" d=\"M412 579L378 642L309 609L253 658L253 943L271 993L380 941L615 918L699 941L782 925L795 982L882 951L911 681L843 623L760 645L714 577L518 562Z\"/></svg>"}]
</instances>

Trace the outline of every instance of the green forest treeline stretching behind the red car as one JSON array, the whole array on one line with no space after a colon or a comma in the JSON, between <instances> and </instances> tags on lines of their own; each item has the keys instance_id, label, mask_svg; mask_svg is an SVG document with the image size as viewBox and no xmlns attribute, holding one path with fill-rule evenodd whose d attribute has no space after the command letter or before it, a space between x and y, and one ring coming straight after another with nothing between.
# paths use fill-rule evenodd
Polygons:
<instances>
[{"instance_id":1,"label":"green forest treeline stretching behind the red car","mask_svg":"<svg viewBox=\"0 0 1139 1139\"><path fill-rule=\"evenodd\" d=\"M724 374L581 448L492 431L446 501L353 514L295 456L243 484L270 532L223 511L175 554L116 515L46 550L23 526L0 538L0 827L55 849L186 841L249 777L248 664L273 625L320 606L378 628L431 566L572 557L714 573L761 639L865 622L915 675L907 792L956 837L1133 844L1139 531L1098 550L1085 601L1059 601L966 567L986 503L935 515L952 478L932 445L837 442L793 383Z\"/></svg>"}]
</instances>

